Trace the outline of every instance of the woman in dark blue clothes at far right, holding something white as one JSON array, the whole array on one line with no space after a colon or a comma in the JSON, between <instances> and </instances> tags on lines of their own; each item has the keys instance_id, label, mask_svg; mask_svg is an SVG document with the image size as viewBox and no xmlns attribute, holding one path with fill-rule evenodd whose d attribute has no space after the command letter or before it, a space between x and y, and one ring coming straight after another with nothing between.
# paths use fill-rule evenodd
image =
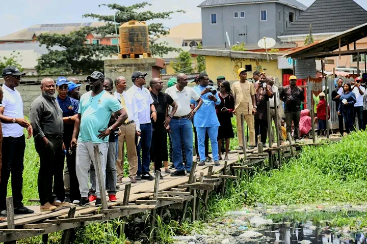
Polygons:
<instances>
[{"instance_id":1,"label":"woman in dark blue clothes at far right, holding something white","mask_svg":"<svg viewBox=\"0 0 367 244\"><path fill-rule=\"evenodd\" d=\"M340 96L340 103L338 108L338 115L343 115L347 134L354 131L354 104L357 102L355 94L352 92L352 85L350 83L344 84L344 92Z\"/></svg>"}]
</instances>

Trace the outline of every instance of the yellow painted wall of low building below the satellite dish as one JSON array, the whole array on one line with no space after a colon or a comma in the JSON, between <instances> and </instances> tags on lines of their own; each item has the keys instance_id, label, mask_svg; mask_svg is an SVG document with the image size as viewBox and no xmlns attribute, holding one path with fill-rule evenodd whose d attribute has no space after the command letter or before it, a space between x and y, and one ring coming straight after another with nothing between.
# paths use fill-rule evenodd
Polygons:
<instances>
[{"instance_id":1,"label":"yellow painted wall of low building below the satellite dish","mask_svg":"<svg viewBox=\"0 0 367 244\"><path fill-rule=\"evenodd\" d=\"M206 73L209 78L215 80L218 76L226 77L226 80L239 80L237 70L246 68L246 65L252 66L252 72L248 72L248 78L252 77L255 70L265 72L269 76L279 78L281 80L282 72L278 70L277 60L254 59L254 58L236 58L236 57L217 57L205 56Z\"/></svg>"}]
</instances>

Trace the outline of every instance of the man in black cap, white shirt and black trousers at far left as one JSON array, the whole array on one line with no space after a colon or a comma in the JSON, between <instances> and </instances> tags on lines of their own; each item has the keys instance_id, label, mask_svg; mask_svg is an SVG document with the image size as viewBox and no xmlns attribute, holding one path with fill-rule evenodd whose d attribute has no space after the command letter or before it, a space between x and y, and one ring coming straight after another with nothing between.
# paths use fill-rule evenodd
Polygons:
<instances>
[{"instance_id":1,"label":"man in black cap, white shirt and black trousers at far left","mask_svg":"<svg viewBox=\"0 0 367 244\"><path fill-rule=\"evenodd\" d=\"M12 174L12 193L14 199L14 214L32 214L34 211L22 204L23 186L23 159L25 137L23 128L27 128L28 138L32 136L31 124L24 119L23 102L19 92L15 89L20 84L20 72L13 66L3 70L5 84L3 85L4 98L0 104L0 119L3 127L3 167L0 181L0 215L6 216L6 197L8 180Z\"/></svg>"}]
</instances>

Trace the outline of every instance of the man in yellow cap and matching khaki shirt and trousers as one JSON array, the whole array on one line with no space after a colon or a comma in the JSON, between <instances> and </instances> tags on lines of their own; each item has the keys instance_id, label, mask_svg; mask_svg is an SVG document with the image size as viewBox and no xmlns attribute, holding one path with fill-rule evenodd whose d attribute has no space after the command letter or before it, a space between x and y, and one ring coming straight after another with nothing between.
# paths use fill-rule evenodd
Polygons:
<instances>
[{"instance_id":1,"label":"man in yellow cap and matching khaki shirt and trousers","mask_svg":"<svg viewBox=\"0 0 367 244\"><path fill-rule=\"evenodd\" d=\"M247 70L240 68L237 73L240 76L240 80L234 82L232 85L232 93L235 99L234 111L237 119L237 135L239 140L239 147L237 150L242 150L242 128L241 128L241 114L244 114L247 126L250 134L249 149L255 147L255 117L256 113L256 101L255 101L255 87L247 80Z\"/></svg>"}]
</instances>

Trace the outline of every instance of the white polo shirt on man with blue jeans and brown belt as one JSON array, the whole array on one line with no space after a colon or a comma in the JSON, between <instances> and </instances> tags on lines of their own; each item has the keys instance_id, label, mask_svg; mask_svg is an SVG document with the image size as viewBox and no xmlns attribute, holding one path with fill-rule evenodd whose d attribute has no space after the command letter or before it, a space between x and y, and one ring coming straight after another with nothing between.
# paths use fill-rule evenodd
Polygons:
<instances>
[{"instance_id":1,"label":"white polo shirt on man with blue jeans and brown belt","mask_svg":"<svg viewBox=\"0 0 367 244\"><path fill-rule=\"evenodd\" d=\"M177 111L174 116L185 116L191 112L190 101L194 99L199 100L200 95L195 92L192 87L185 86L180 92L176 85L166 89L166 94L170 95L171 98L177 103ZM169 107L169 114L172 111L172 107Z\"/></svg>"}]
</instances>

